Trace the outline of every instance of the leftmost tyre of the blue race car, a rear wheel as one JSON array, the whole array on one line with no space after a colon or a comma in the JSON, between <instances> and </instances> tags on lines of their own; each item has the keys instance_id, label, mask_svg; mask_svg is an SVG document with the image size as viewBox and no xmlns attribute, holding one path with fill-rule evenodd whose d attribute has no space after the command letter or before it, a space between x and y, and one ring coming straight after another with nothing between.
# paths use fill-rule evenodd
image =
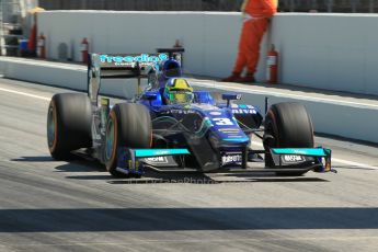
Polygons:
<instances>
[{"instance_id":1,"label":"leftmost tyre of the blue race car, a rear wheel","mask_svg":"<svg viewBox=\"0 0 378 252\"><path fill-rule=\"evenodd\" d=\"M92 146L91 103L80 93L51 98L47 113L47 145L54 159L71 158L71 151Z\"/></svg>"}]
</instances>

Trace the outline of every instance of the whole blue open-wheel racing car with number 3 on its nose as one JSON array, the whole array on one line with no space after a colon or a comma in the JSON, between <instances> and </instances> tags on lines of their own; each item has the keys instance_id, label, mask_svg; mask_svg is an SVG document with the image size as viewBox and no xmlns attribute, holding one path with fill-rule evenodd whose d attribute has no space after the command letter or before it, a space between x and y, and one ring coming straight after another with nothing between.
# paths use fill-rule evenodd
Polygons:
<instances>
[{"instance_id":1,"label":"whole blue open-wheel racing car with number 3 on its nose","mask_svg":"<svg viewBox=\"0 0 378 252\"><path fill-rule=\"evenodd\" d=\"M159 172L274 171L302 175L331 171L331 150L314 148L305 106L278 103L265 108L241 104L241 94L194 90L180 61L167 54L91 54L88 94L59 93L47 114L47 142L54 159L84 153L116 177ZM112 103L99 94L102 79L134 79L133 99ZM148 85L142 90L141 80ZM261 149L251 142L260 138ZM251 167L256 159L263 169Z\"/></svg>"}]
</instances>

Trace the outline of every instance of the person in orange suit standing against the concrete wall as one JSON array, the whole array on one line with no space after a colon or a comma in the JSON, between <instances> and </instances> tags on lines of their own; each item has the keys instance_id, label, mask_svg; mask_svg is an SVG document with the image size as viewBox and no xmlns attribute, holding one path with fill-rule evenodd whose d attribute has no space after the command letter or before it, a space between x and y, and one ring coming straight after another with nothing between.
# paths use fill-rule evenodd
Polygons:
<instances>
[{"instance_id":1,"label":"person in orange suit standing against the concrete wall","mask_svg":"<svg viewBox=\"0 0 378 252\"><path fill-rule=\"evenodd\" d=\"M239 51L232 75L222 81L227 82L254 82L260 44L267 28L268 19L277 12L277 0L244 0L241 11L243 12L243 26L239 41ZM244 68L247 73L241 77Z\"/></svg>"}]
</instances>

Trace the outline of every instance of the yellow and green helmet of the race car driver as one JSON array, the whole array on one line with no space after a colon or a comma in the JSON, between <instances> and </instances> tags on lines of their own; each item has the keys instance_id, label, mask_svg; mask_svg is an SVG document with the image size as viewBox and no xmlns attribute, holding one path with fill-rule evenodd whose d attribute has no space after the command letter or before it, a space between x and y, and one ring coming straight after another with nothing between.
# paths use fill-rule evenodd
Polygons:
<instances>
[{"instance_id":1,"label":"yellow and green helmet of the race car driver","mask_svg":"<svg viewBox=\"0 0 378 252\"><path fill-rule=\"evenodd\" d=\"M167 104L191 103L194 98L193 88L185 79L172 78L165 84L164 98Z\"/></svg>"}]
</instances>

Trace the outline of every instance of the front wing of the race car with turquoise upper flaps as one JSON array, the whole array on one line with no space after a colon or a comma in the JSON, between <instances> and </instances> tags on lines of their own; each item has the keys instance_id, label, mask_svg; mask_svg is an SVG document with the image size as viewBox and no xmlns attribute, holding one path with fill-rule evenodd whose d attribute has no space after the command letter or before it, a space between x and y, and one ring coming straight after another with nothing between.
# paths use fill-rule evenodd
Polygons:
<instances>
[{"instance_id":1,"label":"front wing of the race car with turquoise upper flaps","mask_svg":"<svg viewBox=\"0 0 378 252\"><path fill-rule=\"evenodd\" d=\"M184 158L191 156L188 149L128 149L118 150L118 165L116 170L125 174L145 173L145 168L159 172L245 172L245 171L314 171L330 172L331 150L324 148L273 148L271 154L275 167L268 169L253 169L248 167L249 153L255 153L253 150L245 150L242 153L234 153L233 157L221 156L221 160L231 159L225 165L217 167L213 170L190 169L180 165L174 156ZM222 163L222 162L221 162Z\"/></svg>"}]
</instances>

